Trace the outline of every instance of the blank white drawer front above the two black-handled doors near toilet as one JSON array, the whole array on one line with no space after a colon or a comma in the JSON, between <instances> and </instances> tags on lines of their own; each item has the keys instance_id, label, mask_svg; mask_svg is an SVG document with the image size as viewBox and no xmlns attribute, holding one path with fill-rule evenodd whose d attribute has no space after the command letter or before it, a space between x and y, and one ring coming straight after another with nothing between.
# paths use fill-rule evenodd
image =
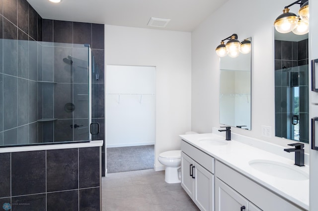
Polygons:
<instances>
[{"instance_id":1,"label":"blank white drawer front above the two black-handled doors near toilet","mask_svg":"<svg viewBox=\"0 0 318 211\"><path fill-rule=\"evenodd\" d=\"M204 168L214 174L214 158L202 152L198 148L181 141L181 151L196 162L200 163Z\"/></svg>"}]
</instances>

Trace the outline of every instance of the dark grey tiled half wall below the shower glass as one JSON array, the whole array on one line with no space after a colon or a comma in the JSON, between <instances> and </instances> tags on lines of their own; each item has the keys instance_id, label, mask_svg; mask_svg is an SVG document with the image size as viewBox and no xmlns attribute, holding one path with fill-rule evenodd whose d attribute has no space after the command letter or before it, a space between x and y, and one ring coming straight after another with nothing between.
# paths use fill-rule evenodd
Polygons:
<instances>
[{"instance_id":1,"label":"dark grey tiled half wall below the shower glass","mask_svg":"<svg viewBox=\"0 0 318 211\"><path fill-rule=\"evenodd\" d=\"M14 211L99 211L100 156L100 147L2 153L0 205L10 203Z\"/></svg>"}]
</instances>

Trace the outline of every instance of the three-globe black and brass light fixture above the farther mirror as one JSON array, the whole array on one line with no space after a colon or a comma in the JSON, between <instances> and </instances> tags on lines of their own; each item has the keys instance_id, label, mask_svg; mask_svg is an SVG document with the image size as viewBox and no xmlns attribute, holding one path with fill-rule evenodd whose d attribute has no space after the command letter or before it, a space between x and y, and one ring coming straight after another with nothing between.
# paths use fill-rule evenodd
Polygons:
<instances>
[{"instance_id":1,"label":"three-globe black and brass light fixture above the farther mirror","mask_svg":"<svg viewBox=\"0 0 318 211\"><path fill-rule=\"evenodd\" d=\"M229 40L225 45L224 41ZM216 48L218 56L223 57L229 54L230 57L238 57L240 53L250 52L250 41L243 40L241 43L238 40L238 35L233 34L221 41L221 44Z\"/></svg>"}]
</instances>

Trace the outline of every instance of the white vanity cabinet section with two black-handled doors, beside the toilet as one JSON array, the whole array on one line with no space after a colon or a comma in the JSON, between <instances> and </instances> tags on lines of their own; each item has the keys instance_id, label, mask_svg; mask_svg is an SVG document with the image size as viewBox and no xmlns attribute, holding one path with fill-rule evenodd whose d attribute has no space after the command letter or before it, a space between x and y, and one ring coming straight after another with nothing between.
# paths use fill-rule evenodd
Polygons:
<instances>
[{"instance_id":1,"label":"white vanity cabinet section with two black-handled doors, beside the toilet","mask_svg":"<svg viewBox=\"0 0 318 211\"><path fill-rule=\"evenodd\" d=\"M181 186L201 211L214 211L214 158L181 142Z\"/></svg>"}]
</instances>

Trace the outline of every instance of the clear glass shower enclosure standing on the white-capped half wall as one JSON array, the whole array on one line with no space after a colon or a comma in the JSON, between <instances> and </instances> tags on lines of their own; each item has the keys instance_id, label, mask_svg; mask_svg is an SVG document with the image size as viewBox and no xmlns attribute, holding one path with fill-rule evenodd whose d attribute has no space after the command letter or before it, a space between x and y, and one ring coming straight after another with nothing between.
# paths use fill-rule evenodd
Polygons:
<instances>
[{"instance_id":1,"label":"clear glass shower enclosure standing on the white-capped half wall","mask_svg":"<svg viewBox=\"0 0 318 211\"><path fill-rule=\"evenodd\" d=\"M3 51L0 70L0 146L89 141L98 133L89 45L5 39L0 45L11 49Z\"/></svg>"}]
</instances>

